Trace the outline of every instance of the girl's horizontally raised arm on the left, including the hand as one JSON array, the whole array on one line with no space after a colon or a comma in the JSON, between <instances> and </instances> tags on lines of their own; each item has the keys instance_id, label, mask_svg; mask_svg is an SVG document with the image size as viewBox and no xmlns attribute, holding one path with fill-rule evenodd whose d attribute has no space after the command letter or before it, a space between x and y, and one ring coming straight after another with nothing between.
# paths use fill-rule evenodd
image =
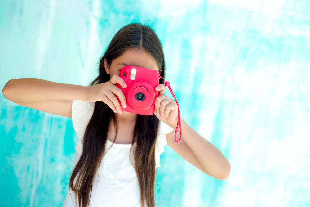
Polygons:
<instances>
[{"instance_id":1,"label":"girl's horizontally raised arm on the left, including the hand","mask_svg":"<svg viewBox=\"0 0 310 207\"><path fill-rule=\"evenodd\" d=\"M125 84L124 80L118 76L113 76L110 81L94 86L21 78L9 80L2 89L2 93L8 100L21 106L71 118L72 100L103 101L113 111L121 110L114 94L120 98L123 107L126 104L126 99L121 89L115 86L116 83L122 86Z\"/></svg>"}]
</instances>

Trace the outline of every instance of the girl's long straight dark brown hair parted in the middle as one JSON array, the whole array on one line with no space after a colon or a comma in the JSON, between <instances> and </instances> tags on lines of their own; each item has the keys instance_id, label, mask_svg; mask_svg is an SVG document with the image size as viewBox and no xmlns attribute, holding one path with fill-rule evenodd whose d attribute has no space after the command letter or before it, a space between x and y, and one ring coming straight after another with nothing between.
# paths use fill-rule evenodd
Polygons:
<instances>
[{"instance_id":1,"label":"girl's long straight dark brown hair parted in the middle","mask_svg":"<svg viewBox=\"0 0 310 207\"><path fill-rule=\"evenodd\" d=\"M157 61L159 70L162 70L160 75L165 78L165 58L159 38L149 26L133 23L124 26L114 35L100 58L99 75L90 85L105 83L110 80L110 75L104 69L104 58L110 65L115 58L131 48L149 52ZM159 84L163 83L164 80L159 79ZM117 121L115 113L108 105L102 101L95 102L93 115L83 137L82 154L71 173L69 182L69 187L76 194L76 197L78 196L78 204L81 207L87 207L89 204L94 176L106 153L105 144L112 122L116 132L113 143L116 140ZM155 207L154 188L157 177L155 143L158 128L159 120L154 114L150 116L137 115L132 143L137 142L134 153L134 168L140 185L142 207L144 207L145 201L147 207ZM130 148L130 154L132 150L133 144Z\"/></svg>"}]
</instances>

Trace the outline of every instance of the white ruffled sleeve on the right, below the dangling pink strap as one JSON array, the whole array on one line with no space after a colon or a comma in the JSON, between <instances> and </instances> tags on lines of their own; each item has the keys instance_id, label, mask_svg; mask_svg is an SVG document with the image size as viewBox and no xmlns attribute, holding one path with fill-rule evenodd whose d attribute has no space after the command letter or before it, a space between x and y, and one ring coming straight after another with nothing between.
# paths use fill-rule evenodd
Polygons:
<instances>
[{"instance_id":1,"label":"white ruffled sleeve on the right, below the dangling pink strap","mask_svg":"<svg viewBox=\"0 0 310 207\"><path fill-rule=\"evenodd\" d=\"M173 130L169 125L165 124L164 122L160 121L159 131L157 135L157 143L155 146L155 160L156 160L156 167L160 167L160 154L162 154L164 150L164 146L167 144L166 134L170 133Z\"/></svg>"}]
</instances>

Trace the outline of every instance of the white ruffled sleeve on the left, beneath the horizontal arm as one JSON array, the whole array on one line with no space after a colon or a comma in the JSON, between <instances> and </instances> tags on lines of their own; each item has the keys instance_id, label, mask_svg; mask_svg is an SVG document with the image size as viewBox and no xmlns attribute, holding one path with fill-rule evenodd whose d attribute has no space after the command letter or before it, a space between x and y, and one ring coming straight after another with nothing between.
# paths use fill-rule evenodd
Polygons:
<instances>
[{"instance_id":1,"label":"white ruffled sleeve on the left, beneath the horizontal arm","mask_svg":"<svg viewBox=\"0 0 310 207\"><path fill-rule=\"evenodd\" d=\"M95 103L88 103L82 100L72 101L72 123L73 128L77 133L78 142L75 146L76 151L81 154L82 152L82 139L87 127L88 122L93 115Z\"/></svg>"}]
</instances>

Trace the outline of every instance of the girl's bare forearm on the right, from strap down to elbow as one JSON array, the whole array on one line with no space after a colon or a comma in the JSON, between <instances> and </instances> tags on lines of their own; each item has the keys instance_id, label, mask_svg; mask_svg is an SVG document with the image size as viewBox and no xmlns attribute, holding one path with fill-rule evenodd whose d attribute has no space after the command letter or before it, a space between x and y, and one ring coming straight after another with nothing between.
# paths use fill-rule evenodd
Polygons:
<instances>
[{"instance_id":1,"label":"girl's bare forearm on the right, from strap down to elbow","mask_svg":"<svg viewBox=\"0 0 310 207\"><path fill-rule=\"evenodd\" d=\"M175 126L171 126L176 128ZM214 178L227 179L230 174L230 163L223 153L211 142L201 137L181 118L182 138L196 155L201 166ZM180 128L178 128L180 133ZM179 140L179 137L177 137Z\"/></svg>"}]
</instances>

